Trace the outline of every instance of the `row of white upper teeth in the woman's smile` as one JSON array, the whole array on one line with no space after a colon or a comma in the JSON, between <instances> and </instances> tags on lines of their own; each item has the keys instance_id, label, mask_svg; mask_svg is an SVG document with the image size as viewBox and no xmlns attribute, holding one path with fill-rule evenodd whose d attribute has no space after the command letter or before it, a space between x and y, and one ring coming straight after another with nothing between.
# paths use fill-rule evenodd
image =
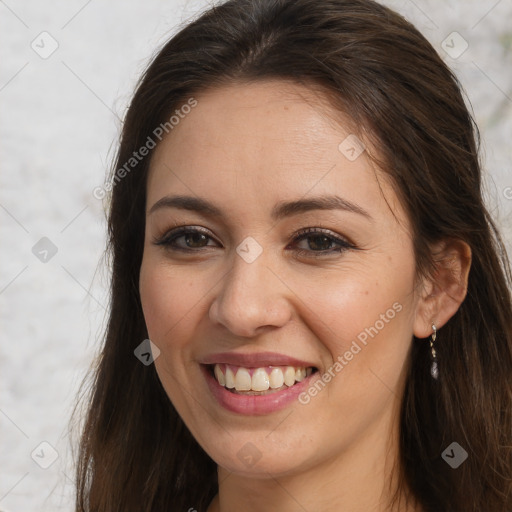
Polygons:
<instances>
[{"instance_id":1,"label":"row of white upper teeth in the woman's smile","mask_svg":"<svg viewBox=\"0 0 512 512\"><path fill-rule=\"evenodd\" d=\"M295 382L302 382L313 373L313 368L293 366L255 368L251 372L247 368L239 367L234 371L228 366L216 364L213 373L217 382L228 389L236 391L267 391L279 389L284 384L291 387Z\"/></svg>"}]
</instances>

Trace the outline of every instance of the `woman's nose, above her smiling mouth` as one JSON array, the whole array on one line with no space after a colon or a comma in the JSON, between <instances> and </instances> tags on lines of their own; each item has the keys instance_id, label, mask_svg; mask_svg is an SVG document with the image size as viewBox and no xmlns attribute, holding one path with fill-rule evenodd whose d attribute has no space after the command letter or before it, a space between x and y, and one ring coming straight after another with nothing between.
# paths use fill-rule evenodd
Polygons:
<instances>
[{"instance_id":1,"label":"woman's nose, above her smiling mouth","mask_svg":"<svg viewBox=\"0 0 512 512\"><path fill-rule=\"evenodd\" d=\"M210 320L232 335L254 337L269 326L284 326L292 316L289 288L267 265L263 254L252 263L236 254L210 306Z\"/></svg>"}]
</instances>

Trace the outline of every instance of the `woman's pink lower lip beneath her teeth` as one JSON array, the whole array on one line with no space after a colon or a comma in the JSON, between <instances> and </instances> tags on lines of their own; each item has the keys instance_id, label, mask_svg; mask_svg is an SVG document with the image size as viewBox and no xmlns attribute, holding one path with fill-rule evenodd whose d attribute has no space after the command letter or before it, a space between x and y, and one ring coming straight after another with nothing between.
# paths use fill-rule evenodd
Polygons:
<instances>
[{"instance_id":1,"label":"woman's pink lower lip beneath her teeth","mask_svg":"<svg viewBox=\"0 0 512 512\"><path fill-rule=\"evenodd\" d=\"M268 393L267 395L239 395L221 386L207 366L201 365L201 370L217 402L228 411L247 416L270 414L284 409L293 401L298 400L298 396L310 385L311 378L315 377L317 373L311 374L302 382L297 382L288 389Z\"/></svg>"}]
</instances>

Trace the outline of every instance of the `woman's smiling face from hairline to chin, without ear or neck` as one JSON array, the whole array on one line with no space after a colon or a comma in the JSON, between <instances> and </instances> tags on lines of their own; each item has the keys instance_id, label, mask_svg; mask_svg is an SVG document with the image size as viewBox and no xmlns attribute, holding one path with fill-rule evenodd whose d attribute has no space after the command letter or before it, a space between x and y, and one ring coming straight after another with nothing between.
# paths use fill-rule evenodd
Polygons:
<instances>
[{"instance_id":1,"label":"woman's smiling face from hairline to chin, without ear or neck","mask_svg":"<svg viewBox=\"0 0 512 512\"><path fill-rule=\"evenodd\" d=\"M230 471L376 456L418 322L395 194L304 86L196 100L147 182L140 293L163 387ZM182 227L197 231L174 236Z\"/></svg>"}]
</instances>

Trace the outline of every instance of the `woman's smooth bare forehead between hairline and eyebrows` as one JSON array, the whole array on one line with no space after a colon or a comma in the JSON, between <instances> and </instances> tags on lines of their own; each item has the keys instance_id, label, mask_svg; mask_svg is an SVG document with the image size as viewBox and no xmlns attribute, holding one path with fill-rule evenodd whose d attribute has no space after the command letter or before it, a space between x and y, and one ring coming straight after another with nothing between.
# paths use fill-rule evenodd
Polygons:
<instances>
[{"instance_id":1,"label":"woman's smooth bare forehead between hairline and eyebrows","mask_svg":"<svg viewBox=\"0 0 512 512\"><path fill-rule=\"evenodd\" d=\"M369 147L357 157L352 123L317 91L272 81L223 86L194 98L197 105L153 155L149 207L171 192L220 198L240 215L327 193L365 209L380 206Z\"/></svg>"}]
</instances>

